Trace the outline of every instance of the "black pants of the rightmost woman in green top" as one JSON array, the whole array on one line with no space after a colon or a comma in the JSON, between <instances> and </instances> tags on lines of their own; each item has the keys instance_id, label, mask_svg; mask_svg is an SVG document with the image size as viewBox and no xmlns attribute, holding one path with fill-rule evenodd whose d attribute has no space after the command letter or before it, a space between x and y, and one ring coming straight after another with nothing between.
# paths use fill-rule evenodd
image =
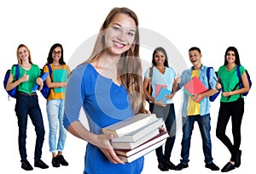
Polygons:
<instances>
[{"instance_id":1,"label":"black pants of the rightmost woman in green top","mask_svg":"<svg viewBox=\"0 0 256 174\"><path fill-rule=\"evenodd\" d=\"M216 128L217 138L224 143L224 145L230 150L231 161L236 160L236 156L241 144L241 120L244 113L244 100L239 98L234 102L220 103L218 111L218 122ZM228 122L232 123L232 134L234 144L231 143L230 138L225 134Z\"/></svg>"}]
</instances>

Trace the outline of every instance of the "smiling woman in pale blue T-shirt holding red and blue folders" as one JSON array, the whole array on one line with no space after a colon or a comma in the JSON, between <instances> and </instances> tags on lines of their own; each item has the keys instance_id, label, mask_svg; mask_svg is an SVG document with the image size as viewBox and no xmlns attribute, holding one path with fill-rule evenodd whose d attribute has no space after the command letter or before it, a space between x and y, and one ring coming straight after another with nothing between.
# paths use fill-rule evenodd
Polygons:
<instances>
[{"instance_id":1,"label":"smiling woman in pale blue T-shirt holding red and blue folders","mask_svg":"<svg viewBox=\"0 0 256 174\"><path fill-rule=\"evenodd\" d=\"M149 79L149 70L146 70L143 81L144 93L147 98L149 98L149 110L154 113L157 117L163 118L166 125L166 131L169 132L170 138L166 139L165 152L163 153L163 148L160 147L155 150L157 160L159 162L158 168L160 171L173 170L175 165L172 164L170 158L172 153L172 148L176 138L176 115L172 98L175 93L166 95L166 102L163 100L155 101L155 92L157 85L166 85L166 88L172 91L172 84L175 79L176 72L169 67L168 57L166 50L164 48L155 48L152 58L152 76ZM147 91L148 82L151 80L152 84L152 95Z\"/></svg>"}]
</instances>

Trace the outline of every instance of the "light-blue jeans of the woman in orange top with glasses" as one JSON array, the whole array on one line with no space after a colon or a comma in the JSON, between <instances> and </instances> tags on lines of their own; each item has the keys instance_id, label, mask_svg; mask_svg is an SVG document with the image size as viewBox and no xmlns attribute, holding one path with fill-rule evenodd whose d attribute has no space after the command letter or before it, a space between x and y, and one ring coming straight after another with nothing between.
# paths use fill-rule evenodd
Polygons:
<instances>
[{"instance_id":1,"label":"light-blue jeans of the woman in orange top with glasses","mask_svg":"<svg viewBox=\"0 0 256 174\"><path fill-rule=\"evenodd\" d=\"M46 111L49 121L49 151L63 151L67 138L67 130L63 126L64 99L47 101ZM57 134L59 135L58 141Z\"/></svg>"}]
</instances>

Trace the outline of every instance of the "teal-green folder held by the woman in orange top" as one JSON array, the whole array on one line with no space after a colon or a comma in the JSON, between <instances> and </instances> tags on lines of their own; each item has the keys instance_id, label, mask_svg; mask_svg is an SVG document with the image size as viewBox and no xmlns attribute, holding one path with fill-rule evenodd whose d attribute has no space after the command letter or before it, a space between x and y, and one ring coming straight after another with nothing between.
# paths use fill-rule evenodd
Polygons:
<instances>
[{"instance_id":1,"label":"teal-green folder held by the woman in orange top","mask_svg":"<svg viewBox=\"0 0 256 174\"><path fill-rule=\"evenodd\" d=\"M67 70L53 70L52 71L53 82L67 81ZM55 93L65 92L66 88L55 87Z\"/></svg>"}]
</instances>

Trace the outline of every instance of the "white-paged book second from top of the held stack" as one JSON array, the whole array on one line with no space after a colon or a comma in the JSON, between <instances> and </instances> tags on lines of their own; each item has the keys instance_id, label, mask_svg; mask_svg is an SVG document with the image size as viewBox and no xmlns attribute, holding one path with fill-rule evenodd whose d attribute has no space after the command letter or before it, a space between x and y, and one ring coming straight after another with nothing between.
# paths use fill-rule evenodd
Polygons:
<instances>
[{"instance_id":1,"label":"white-paged book second from top of the held stack","mask_svg":"<svg viewBox=\"0 0 256 174\"><path fill-rule=\"evenodd\" d=\"M156 131L156 128L163 126L163 124L163 119L157 118L157 120L153 123L143 126L142 128L139 128L134 132L128 133L127 135L124 135L119 138L113 138L112 142L137 142L139 139L145 137L149 133L152 133L155 136L159 133L159 131Z\"/></svg>"}]
</instances>

